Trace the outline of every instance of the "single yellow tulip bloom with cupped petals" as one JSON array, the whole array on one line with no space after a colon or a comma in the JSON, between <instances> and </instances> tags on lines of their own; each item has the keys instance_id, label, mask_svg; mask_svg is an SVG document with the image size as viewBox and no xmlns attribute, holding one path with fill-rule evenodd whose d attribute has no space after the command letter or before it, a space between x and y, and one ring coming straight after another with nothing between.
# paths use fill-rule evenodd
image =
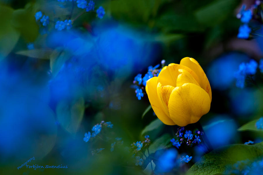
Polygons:
<instances>
[{"instance_id":1,"label":"single yellow tulip bloom with cupped petals","mask_svg":"<svg viewBox=\"0 0 263 175\"><path fill-rule=\"evenodd\" d=\"M200 64L185 57L180 64L162 68L146 83L146 93L156 116L167 125L186 126L210 110L212 92Z\"/></svg>"}]
</instances>

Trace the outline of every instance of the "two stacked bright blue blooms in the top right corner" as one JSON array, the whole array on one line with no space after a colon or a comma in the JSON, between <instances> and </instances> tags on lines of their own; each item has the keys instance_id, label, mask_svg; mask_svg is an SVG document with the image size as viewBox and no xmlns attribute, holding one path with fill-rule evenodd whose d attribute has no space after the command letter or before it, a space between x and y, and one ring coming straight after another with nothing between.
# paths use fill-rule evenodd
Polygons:
<instances>
[{"instance_id":1,"label":"two stacked bright blue blooms in the top right corner","mask_svg":"<svg viewBox=\"0 0 263 175\"><path fill-rule=\"evenodd\" d=\"M249 21L252 19L252 9L245 10L246 6L243 5L240 12L237 14L237 18L243 23L238 29L238 38L248 39L251 29L248 26Z\"/></svg>"}]
</instances>

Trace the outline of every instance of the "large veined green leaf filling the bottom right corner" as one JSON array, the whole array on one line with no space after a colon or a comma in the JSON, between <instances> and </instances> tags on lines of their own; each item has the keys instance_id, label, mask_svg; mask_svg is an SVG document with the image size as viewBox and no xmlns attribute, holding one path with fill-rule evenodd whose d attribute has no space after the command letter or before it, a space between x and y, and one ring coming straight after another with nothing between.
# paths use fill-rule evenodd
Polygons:
<instances>
[{"instance_id":1,"label":"large veined green leaf filling the bottom right corner","mask_svg":"<svg viewBox=\"0 0 263 175\"><path fill-rule=\"evenodd\" d=\"M187 172L187 175L224 174L241 160L256 160L263 155L263 142L255 145L234 144L221 147L204 155Z\"/></svg>"}]
</instances>

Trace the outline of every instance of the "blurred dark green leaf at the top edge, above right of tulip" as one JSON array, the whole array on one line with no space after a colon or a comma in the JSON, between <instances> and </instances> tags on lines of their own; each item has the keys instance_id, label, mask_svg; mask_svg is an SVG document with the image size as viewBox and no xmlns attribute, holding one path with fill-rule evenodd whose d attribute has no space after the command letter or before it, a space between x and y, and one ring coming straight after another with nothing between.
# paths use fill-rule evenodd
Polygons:
<instances>
[{"instance_id":1,"label":"blurred dark green leaf at the top edge, above right of tulip","mask_svg":"<svg viewBox=\"0 0 263 175\"><path fill-rule=\"evenodd\" d=\"M199 23L213 26L229 17L238 4L237 0L216 0L199 8L194 15Z\"/></svg>"}]
</instances>

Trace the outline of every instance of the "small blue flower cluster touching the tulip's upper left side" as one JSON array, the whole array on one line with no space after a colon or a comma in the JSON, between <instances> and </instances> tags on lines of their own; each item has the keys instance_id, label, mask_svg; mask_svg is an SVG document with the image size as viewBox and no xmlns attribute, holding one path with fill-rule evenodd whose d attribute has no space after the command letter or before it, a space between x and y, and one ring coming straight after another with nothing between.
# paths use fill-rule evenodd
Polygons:
<instances>
[{"instance_id":1,"label":"small blue flower cluster touching the tulip's upper left side","mask_svg":"<svg viewBox=\"0 0 263 175\"><path fill-rule=\"evenodd\" d=\"M165 65L165 60L162 60L161 64L162 64L162 68L163 68ZM135 93L136 93L136 97L138 98L138 100L141 100L141 97L143 97L143 91L142 90L146 86L147 80L149 80L150 78L153 78L154 76L158 77L159 73L162 70L162 68L159 68L159 67L160 67L160 64L158 64L154 67L149 66L147 73L143 77L142 77L141 73L139 73L138 75L136 75L134 77L133 84L136 84Z\"/></svg>"}]
</instances>

